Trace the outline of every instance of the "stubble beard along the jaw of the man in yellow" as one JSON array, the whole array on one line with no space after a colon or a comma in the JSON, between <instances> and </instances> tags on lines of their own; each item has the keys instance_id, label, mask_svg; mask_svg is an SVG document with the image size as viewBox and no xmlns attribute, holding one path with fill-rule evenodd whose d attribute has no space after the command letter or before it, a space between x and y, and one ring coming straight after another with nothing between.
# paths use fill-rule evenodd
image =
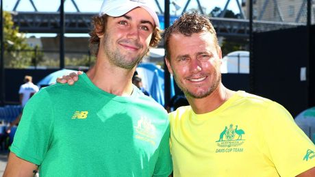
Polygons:
<instances>
[{"instance_id":1,"label":"stubble beard along the jaw of the man in yellow","mask_svg":"<svg viewBox=\"0 0 315 177\"><path fill-rule=\"evenodd\" d=\"M214 81L214 83L212 83L212 85L208 88L208 90L205 90L205 92L198 92L198 93L190 92L187 87L184 87L184 85L182 85L180 83L180 79L177 78L175 73L174 73L174 78L175 78L175 82L177 83L178 87L181 89L181 91L184 92L186 97L190 96L192 98L200 99L200 98L205 98L206 96L209 96L210 94L212 94L214 92L214 90L216 90L218 85L220 84L220 82L221 82L221 73L215 71L213 75L216 76L216 80Z\"/></svg>"}]
</instances>

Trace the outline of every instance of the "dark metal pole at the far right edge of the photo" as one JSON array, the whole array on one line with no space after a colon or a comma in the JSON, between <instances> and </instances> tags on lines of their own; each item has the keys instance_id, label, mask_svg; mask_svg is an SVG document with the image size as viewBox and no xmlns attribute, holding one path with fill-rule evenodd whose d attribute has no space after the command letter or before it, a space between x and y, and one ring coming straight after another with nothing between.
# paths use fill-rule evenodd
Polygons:
<instances>
[{"instance_id":1,"label":"dark metal pole at the far right edge of the photo","mask_svg":"<svg viewBox=\"0 0 315 177\"><path fill-rule=\"evenodd\" d=\"M308 107L313 107L315 105L315 61L312 58L312 26L311 26L311 0L307 0L307 92L308 92ZM314 55L313 55L314 56Z\"/></svg>"}]
</instances>

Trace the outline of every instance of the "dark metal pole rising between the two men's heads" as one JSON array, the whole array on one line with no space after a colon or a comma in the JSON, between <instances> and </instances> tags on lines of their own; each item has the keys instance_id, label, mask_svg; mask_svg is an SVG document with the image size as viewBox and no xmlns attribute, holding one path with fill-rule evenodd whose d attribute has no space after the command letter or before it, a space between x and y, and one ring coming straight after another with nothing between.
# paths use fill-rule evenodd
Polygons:
<instances>
[{"instance_id":1,"label":"dark metal pole rising between the two men's heads","mask_svg":"<svg viewBox=\"0 0 315 177\"><path fill-rule=\"evenodd\" d=\"M164 28L166 29L170 26L170 1L165 0L164 3L165 3L164 4L165 6ZM170 78L170 72L168 71L166 63L164 61L164 107L168 106L168 103L170 100L171 100L171 78Z\"/></svg>"}]
</instances>

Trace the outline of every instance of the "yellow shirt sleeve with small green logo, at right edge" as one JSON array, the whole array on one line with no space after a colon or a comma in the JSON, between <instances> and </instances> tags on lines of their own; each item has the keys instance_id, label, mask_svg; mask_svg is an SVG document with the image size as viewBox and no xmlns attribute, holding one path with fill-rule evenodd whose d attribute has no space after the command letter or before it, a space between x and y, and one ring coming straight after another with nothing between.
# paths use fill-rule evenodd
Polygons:
<instances>
[{"instance_id":1,"label":"yellow shirt sleeve with small green logo, at right edge","mask_svg":"<svg viewBox=\"0 0 315 177\"><path fill-rule=\"evenodd\" d=\"M284 107L270 103L262 124L269 158L280 176L297 176L315 167L315 158L305 159L308 152L315 152L314 144Z\"/></svg>"}]
</instances>

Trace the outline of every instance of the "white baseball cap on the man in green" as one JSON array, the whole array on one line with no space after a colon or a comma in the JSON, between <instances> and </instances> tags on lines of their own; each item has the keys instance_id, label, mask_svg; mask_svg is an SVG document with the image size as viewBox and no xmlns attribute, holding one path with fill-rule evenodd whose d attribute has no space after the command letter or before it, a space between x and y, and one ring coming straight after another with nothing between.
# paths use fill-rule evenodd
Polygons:
<instances>
[{"instance_id":1,"label":"white baseball cap on the man in green","mask_svg":"<svg viewBox=\"0 0 315 177\"><path fill-rule=\"evenodd\" d=\"M114 17L122 16L137 7L147 10L153 17L155 25L160 27L159 18L157 18L152 0L104 0L99 16L103 14Z\"/></svg>"}]
</instances>

